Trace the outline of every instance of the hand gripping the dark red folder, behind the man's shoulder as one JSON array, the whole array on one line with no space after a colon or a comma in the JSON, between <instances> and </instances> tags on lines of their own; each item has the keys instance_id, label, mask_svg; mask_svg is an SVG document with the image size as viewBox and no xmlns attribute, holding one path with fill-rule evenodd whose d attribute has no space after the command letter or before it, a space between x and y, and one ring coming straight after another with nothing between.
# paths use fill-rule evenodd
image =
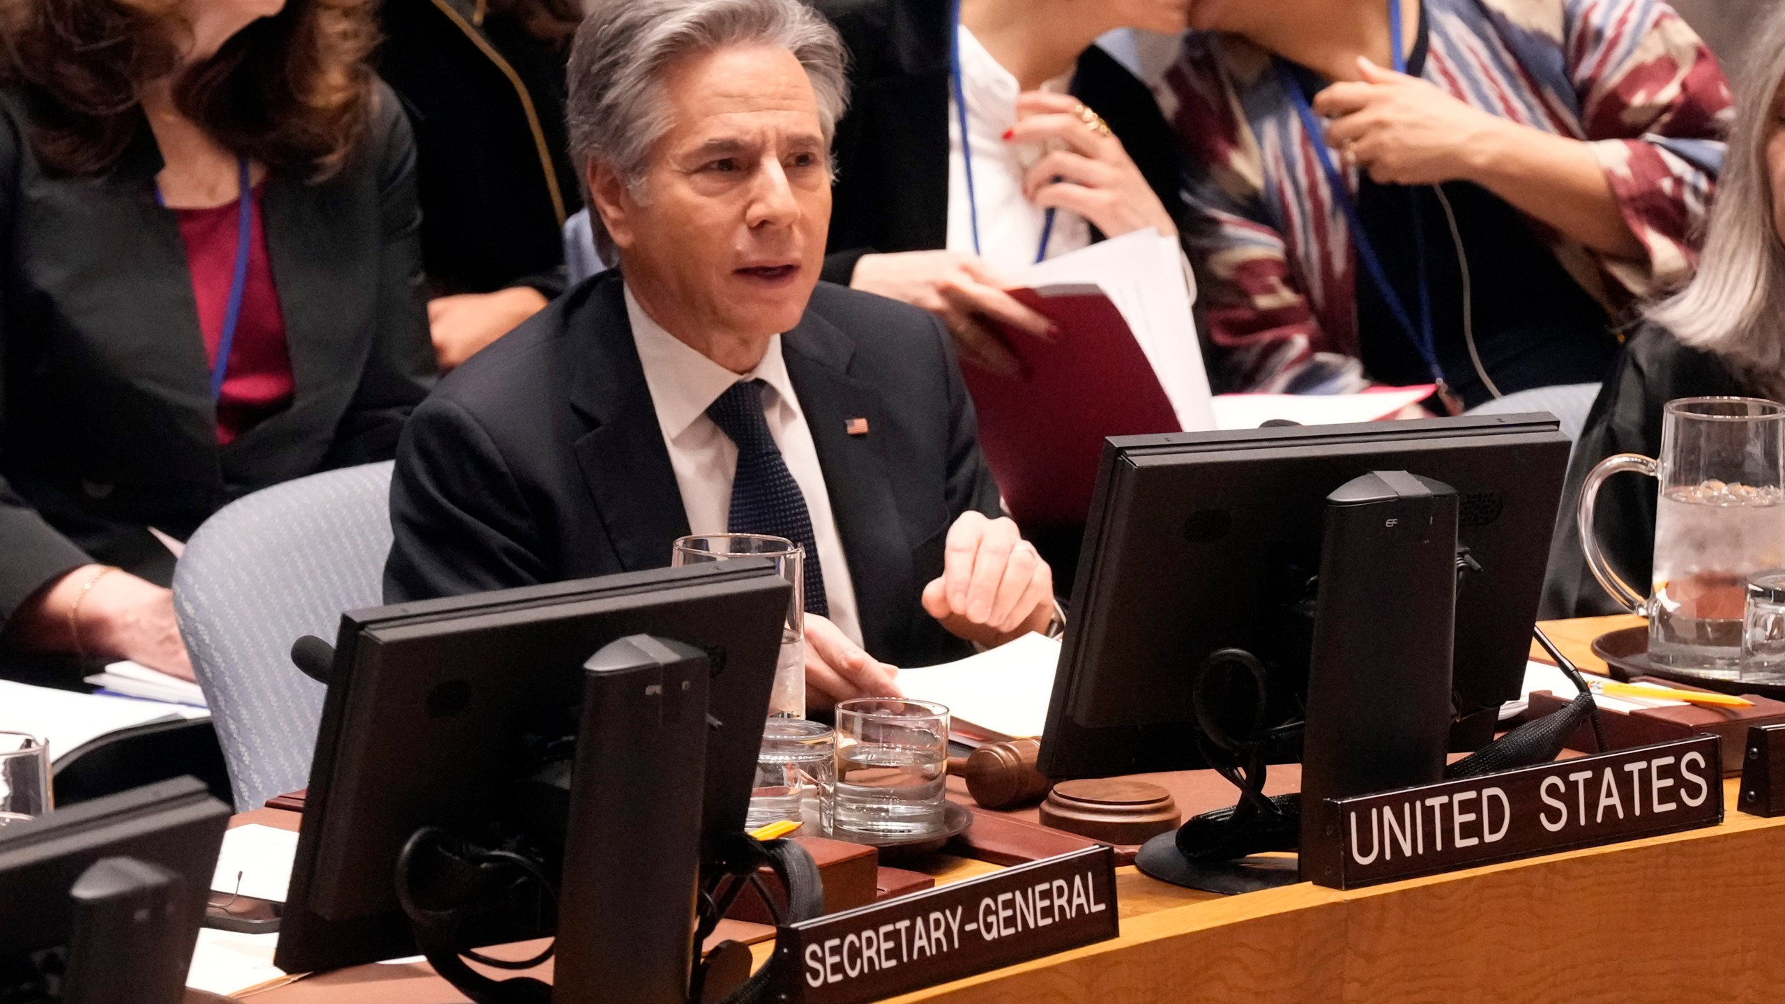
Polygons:
<instances>
[{"instance_id":1,"label":"hand gripping the dark red folder, behind the man's shoulder","mask_svg":"<svg viewBox=\"0 0 1785 1004\"><path fill-rule=\"evenodd\" d=\"M1019 375L1021 366L987 318L1037 338L1059 336L1053 322L1016 302L971 254L866 254L855 263L850 288L930 311L948 325L962 359L1003 377Z\"/></svg>"}]
</instances>

